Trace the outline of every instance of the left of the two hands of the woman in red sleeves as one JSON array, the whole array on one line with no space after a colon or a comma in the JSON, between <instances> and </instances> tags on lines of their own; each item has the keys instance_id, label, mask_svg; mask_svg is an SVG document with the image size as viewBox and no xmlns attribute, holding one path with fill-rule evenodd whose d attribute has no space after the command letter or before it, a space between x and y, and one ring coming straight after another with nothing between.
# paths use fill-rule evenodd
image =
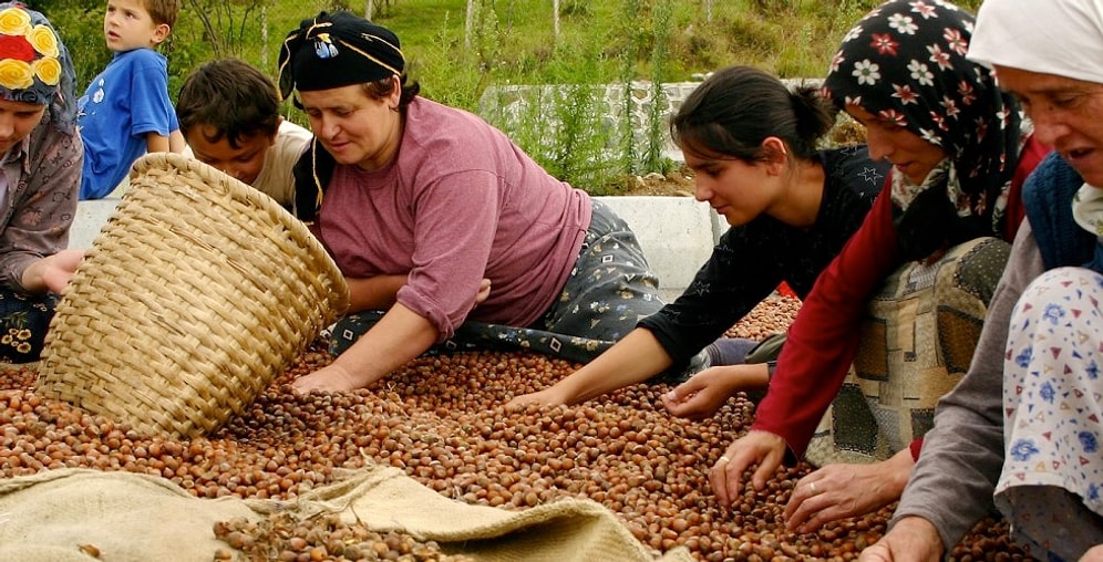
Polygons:
<instances>
[{"instance_id":1,"label":"left of the two hands of the woman in red sleeves","mask_svg":"<svg viewBox=\"0 0 1103 562\"><path fill-rule=\"evenodd\" d=\"M766 480L781 466L785 457L785 439L770 431L752 430L728 446L720 460L709 470L712 491L722 506L731 506L739 498L743 472L757 465L751 476L755 490L766 487Z\"/></svg>"}]
</instances>

